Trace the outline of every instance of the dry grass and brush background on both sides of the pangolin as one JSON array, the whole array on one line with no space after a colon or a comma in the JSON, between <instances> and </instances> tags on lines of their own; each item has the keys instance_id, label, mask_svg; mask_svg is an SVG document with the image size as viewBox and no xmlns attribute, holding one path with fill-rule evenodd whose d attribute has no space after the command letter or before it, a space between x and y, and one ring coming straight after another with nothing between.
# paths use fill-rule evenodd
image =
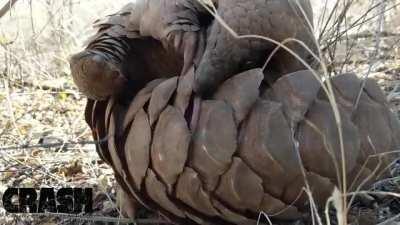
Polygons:
<instances>
[{"instance_id":1,"label":"dry grass and brush background on both sides of the pangolin","mask_svg":"<svg viewBox=\"0 0 400 225\"><path fill-rule=\"evenodd\" d=\"M329 72L375 78L400 112L400 1L313 1ZM6 2L0 0L0 6ZM124 2L20 0L0 19L0 194L9 186L95 187L98 214L117 213L112 171L99 161L93 145L76 144L90 141L90 132L83 120L85 98L73 85L67 58L82 48L96 18ZM26 148L52 143L66 145ZM22 148L9 148L16 146ZM400 192L399 180L379 185ZM395 217L393 205L400 213L394 197L385 203L379 222ZM1 224L57 224L4 215L0 207Z\"/></svg>"}]
</instances>

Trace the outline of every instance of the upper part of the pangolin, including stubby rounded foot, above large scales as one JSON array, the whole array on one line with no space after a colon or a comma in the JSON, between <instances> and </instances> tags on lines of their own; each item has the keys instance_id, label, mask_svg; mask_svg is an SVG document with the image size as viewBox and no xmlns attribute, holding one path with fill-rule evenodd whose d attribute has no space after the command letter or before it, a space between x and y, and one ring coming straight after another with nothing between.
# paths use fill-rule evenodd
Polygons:
<instances>
[{"instance_id":1,"label":"upper part of the pangolin, including stubby rounded foot, above large scales","mask_svg":"<svg viewBox=\"0 0 400 225\"><path fill-rule=\"evenodd\" d=\"M212 22L213 16L206 8L210 3L200 1L138 0L99 22L99 32L86 50L70 60L78 88L92 99L105 99L126 86L133 89L130 93L136 93L135 89L156 77L185 74L194 65L196 89L202 93L230 75L262 66L275 45L254 39L236 40L219 22ZM277 41L297 38L315 49L305 19L312 21L308 0L300 0L299 5L288 0L212 3L239 34L258 34ZM310 55L298 45L288 46L304 59ZM267 73L271 79L271 71L282 74L304 68L286 51L279 51L274 59Z\"/></svg>"}]
</instances>

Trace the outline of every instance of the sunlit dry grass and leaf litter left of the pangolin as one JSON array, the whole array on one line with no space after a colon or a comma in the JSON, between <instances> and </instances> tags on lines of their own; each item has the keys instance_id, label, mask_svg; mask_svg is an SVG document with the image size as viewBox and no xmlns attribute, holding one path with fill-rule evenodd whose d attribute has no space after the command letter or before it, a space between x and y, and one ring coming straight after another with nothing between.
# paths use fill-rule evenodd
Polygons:
<instances>
[{"instance_id":1,"label":"sunlit dry grass and leaf litter left of the pangolin","mask_svg":"<svg viewBox=\"0 0 400 225\"><path fill-rule=\"evenodd\" d=\"M95 19L125 2L20 0L0 19L0 147L90 140L85 98L67 60L84 46ZM0 171L6 172L0 173L0 193L6 187L76 186L113 197L112 171L98 163L94 146L69 147L1 151ZM99 207L115 208L105 197ZM0 224L17 223L3 215L0 209Z\"/></svg>"}]
</instances>

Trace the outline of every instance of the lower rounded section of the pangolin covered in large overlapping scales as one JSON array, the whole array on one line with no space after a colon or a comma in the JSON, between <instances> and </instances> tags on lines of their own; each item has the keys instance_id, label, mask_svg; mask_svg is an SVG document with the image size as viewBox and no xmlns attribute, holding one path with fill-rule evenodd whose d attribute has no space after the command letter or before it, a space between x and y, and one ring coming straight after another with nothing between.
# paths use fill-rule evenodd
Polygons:
<instances>
[{"instance_id":1,"label":"lower rounded section of the pangolin covered in large overlapping scales","mask_svg":"<svg viewBox=\"0 0 400 225\"><path fill-rule=\"evenodd\" d=\"M123 189L172 222L256 224L259 212L298 219L309 210L305 181L323 207L341 181L341 148L332 108L309 71L271 88L253 69L202 100L189 125L194 74L154 80L129 105L88 102L86 120L102 158ZM400 126L377 84L353 74L331 79L342 121L348 190L386 176ZM249 91L250 90L250 91ZM379 118L377 118L379 115ZM304 169L304 174L302 173Z\"/></svg>"}]
</instances>

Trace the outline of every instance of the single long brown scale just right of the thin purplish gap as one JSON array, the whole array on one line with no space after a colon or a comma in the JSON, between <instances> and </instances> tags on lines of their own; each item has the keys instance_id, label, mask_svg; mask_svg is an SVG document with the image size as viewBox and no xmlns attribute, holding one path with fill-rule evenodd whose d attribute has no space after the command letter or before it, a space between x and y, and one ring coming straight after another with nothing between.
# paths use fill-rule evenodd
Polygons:
<instances>
[{"instance_id":1,"label":"single long brown scale just right of the thin purplish gap","mask_svg":"<svg viewBox=\"0 0 400 225\"><path fill-rule=\"evenodd\" d=\"M219 177L229 168L237 148L233 109L223 101L203 101L201 115L192 137L190 165L213 191Z\"/></svg>"}]
</instances>

